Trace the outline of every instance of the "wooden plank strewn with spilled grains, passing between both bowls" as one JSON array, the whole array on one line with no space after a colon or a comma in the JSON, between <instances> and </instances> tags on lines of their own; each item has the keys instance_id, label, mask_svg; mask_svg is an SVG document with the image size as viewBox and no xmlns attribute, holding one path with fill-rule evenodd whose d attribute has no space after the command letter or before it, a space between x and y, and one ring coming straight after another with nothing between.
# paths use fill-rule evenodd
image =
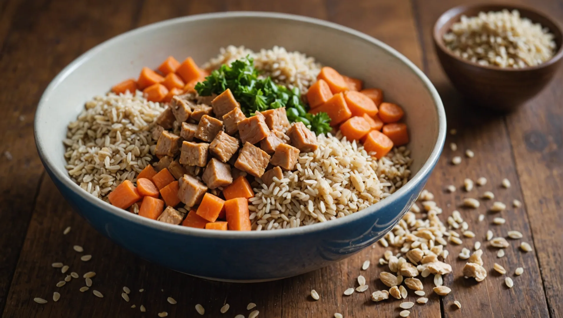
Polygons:
<instances>
[{"instance_id":1,"label":"wooden plank strewn with spilled grains, passing between both bowls","mask_svg":"<svg viewBox=\"0 0 563 318\"><path fill-rule=\"evenodd\" d=\"M463 3L466 3L464 1ZM476 1L475 1L476 2ZM542 288L542 279L539 274L537 258L534 253L522 253L519 248L520 241L532 243L532 233L529 227L529 218L524 208L513 208L513 199L522 200L522 191L519 176L516 173L515 162L512 154L510 137L508 136L504 119L492 117L484 111L479 111L463 100L457 91L448 82L440 68L439 61L434 53L431 30L434 22L442 12L450 7L461 4L461 1L413 1L417 24L425 52L425 71L437 87L444 101L450 128L457 128L458 134L448 136L443 158L436 167L436 172L428 183L444 213L449 216L454 209L459 209L462 216L470 225L470 230L475 232L475 239L463 239L460 246L448 246L450 263L453 275L447 275L444 284L452 288L452 293L443 297L445 317L547 317L546 299ZM531 3L530 3L531 5ZM457 151L449 149L449 143L456 142ZM466 158L463 152L471 149L475 158ZM453 166L450 160L454 155L461 155L461 165ZM525 166L529 167L530 162ZM485 186L478 187L466 193L459 189L464 178L488 178ZM508 178L512 182L510 189L500 186L501 180ZM522 180L521 180L522 181ZM458 190L453 194L445 194L446 185L453 184ZM481 200L481 207L477 210L461 209L458 205L466 197L477 197L482 192L494 192L495 199ZM507 210L500 214L492 214L487 209L492 201L502 201L507 204ZM477 221L478 214L485 214L485 221ZM491 225L494 217L502 216L507 223L502 226ZM505 236L508 230L518 230L524 234L522 240L510 240L511 246L506 249L506 256L497 258L497 249L491 248L485 241L485 232L492 230L495 236ZM534 232L535 235L535 232ZM481 241L484 250L484 267L488 277L481 283L463 278L462 268L466 261L456 259L462 247L471 249L474 241ZM515 287L507 289L504 286L504 276L496 274L492 268L497 262L508 271L506 276L512 277ZM524 267L525 274L515 277L516 267ZM454 300L462 304L461 310L454 307Z\"/></svg>"}]
</instances>

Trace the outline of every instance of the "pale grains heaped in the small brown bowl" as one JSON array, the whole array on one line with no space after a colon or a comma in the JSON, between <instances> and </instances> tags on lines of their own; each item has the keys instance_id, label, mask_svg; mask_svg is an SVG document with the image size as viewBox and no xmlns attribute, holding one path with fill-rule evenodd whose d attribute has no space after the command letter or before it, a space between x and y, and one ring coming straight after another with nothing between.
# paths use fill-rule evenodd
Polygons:
<instances>
[{"instance_id":1,"label":"pale grains heaped in the small brown bowl","mask_svg":"<svg viewBox=\"0 0 563 318\"><path fill-rule=\"evenodd\" d=\"M501 68L537 66L553 57L553 34L517 10L463 15L444 34L444 44L455 55L480 65Z\"/></svg>"}]
</instances>

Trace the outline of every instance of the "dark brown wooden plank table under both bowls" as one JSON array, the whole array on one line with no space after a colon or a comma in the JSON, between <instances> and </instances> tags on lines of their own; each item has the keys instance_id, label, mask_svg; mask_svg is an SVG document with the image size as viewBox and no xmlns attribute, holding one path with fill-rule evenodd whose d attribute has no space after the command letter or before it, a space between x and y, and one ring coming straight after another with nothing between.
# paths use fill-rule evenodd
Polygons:
<instances>
[{"instance_id":1,"label":"dark brown wooden plank table under both bowls","mask_svg":"<svg viewBox=\"0 0 563 318\"><path fill-rule=\"evenodd\" d=\"M350 26L395 47L430 77L443 98L448 126L457 128L449 135L446 147L428 189L448 215L464 197L461 190L446 193L446 185L458 188L464 178L485 176L489 182L477 192L491 190L511 206L519 199L521 208L509 208L502 214L503 226L490 225L493 215L477 223L477 212L462 210L476 238L485 241L485 232L506 235L519 230L522 241L533 252L522 253L511 241L503 258L484 244L485 267L489 276L482 283L463 279L464 261L456 256L462 246L450 249L449 262L454 274L445 276L445 285L453 292L439 298L431 292L431 280L425 281L430 293L426 305L412 308L411 317L563 317L563 218L560 212L563 190L563 70L549 87L515 113L497 116L478 110L464 101L440 69L431 41L431 28L446 9L458 0L205 0L162 1L121 0L82 1L7 0L0 3L0 151L9 151L13 159L0 158L0 313L3 317L157 317L167 311L171 317L194 317L196 303L203 304L208 317L248 315L249 302L257 304L260 317L345 317L399 316L399 301L374 303L369 293L342 295L355 286L359 274L368 284L381 289L376 280L382 268L377 261L383 248L368 248L332 266L290 279L263 284L227 284L196 279L153 265L117 247L104 238L78 214L72 212L55 189L39 161L33 140L35 105L50 80L70 61L96 44L126 32L172 17L204 12L263 10L307 15ZM527 0L556 20L563 20L563 7L556 0ZM85 3L85 2L84 2ZM381 74L385 76L385 74ZM456 152L447 145L456 142ZM449 164L455 154L471 149L475 158L463 158L461 165ZM501 189L503 178L512 182ZM491 203L482 204L486 213ZM72 226L68 235L62 235ZM72 249L82 245L93 258L82 262ZM360 271L365 259L372 261L367 271ZM70 265L81 275L95 271L94 286L105 297L80 293L82 278L62 288L55 284L64 275L51 268L52 262ZM506 288L501 275L492 270L498 262L507 268L515 286ZM516 267L524 274L512 275ZM70 272L69 271L69 272ZM122 286L131 288L131 301L121 297ZM140 293L138 290L144 288ZM320 294L312 301L310 290ZM61 293L54 303L52 293ZM371 289L370 289L371 290ZM167 302L172 296L178 304ZM47 304L33 302L34 297L48 299ZM409 300L414 301L410 293ZM453 306L454 300L462 304ZM226 315L219 313L230 304ZM136 308L130 308L136 304ZM141 313L144 304L147 311Z\"/></svg>"}]
</instances>

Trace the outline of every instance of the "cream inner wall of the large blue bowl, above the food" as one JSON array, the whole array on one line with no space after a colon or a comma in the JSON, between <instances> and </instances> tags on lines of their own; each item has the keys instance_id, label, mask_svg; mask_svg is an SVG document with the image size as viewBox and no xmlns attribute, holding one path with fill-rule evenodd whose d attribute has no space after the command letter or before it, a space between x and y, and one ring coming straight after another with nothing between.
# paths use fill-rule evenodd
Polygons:
<instances>
[{"instance_id":1,"label":"cream inner wall of the large blue bowl, above the food","mask_svg":"<svg viewBox=\"0 0 563 318\"><path fill-rule=\"evenodd\" d=\"M178 60L192 56L203 64L215 57L219 48L230 44L255 51L283 46L363 79L366 87L382 88L385 100L403 106L410 129L408 147L414 159L414 176L433 151L437 156L441 150L445 135L441 101L411 62L385 44L372 41L367 35L336 24L263 12L190 16L133 30L88 51L53 80L39 103L35 119L39 153L57 178L87 196L68 178L61 142L67 124L83 110L84 102L104 94L115 83L136 78L143 66L156 68L169 55ZM428 164L424 167L431 168ZM106 209L117 211L103 204Z\"/></svg>"}]
</instances>

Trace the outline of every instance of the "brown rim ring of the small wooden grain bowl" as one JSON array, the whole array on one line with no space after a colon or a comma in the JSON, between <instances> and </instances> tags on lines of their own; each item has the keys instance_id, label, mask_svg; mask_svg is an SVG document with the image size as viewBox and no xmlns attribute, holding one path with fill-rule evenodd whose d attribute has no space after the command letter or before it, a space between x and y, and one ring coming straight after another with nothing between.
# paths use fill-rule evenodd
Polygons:
<instances>
[{"instance_id":1,"label":"brown rim ring of the small wooden grain bowl","mask_svg":"<svg viewBox=\"0 0 563 318\"><path fill-rule=\"evenodd\" d=\"M551 57L551 59L547 60L546 62L543 62L542 64L539 64L539 65L536 65L536 66L526 66L524 68L519 68L519 69L501 68L501 66L480 65L480 64L477 64L475 62L471 62L471 61L462 59L461 57L452 53L452 51L450 51L444 45L444 41L439 37L439 32L441 31L441 29L444 28L444 25L446 23L448 23L449 21L452 21L454 19L454 17L450 17L448 20L446 20L443 23L442 28L439 28L438 24L440 23L441 20L445 19L446 15L448 15L452 11L457 11L458 12L458 14L456 14L456 16L457 16L459 14L464 14L464 12L467 12L468 10L476 9L476 8L483 8L483 10L481 10L481 11L489 11L489 10L487 10L487 8L498 8L497 10L506 9L506 10L510 10L510 11L511 10L518 10L520 12L528 11L528 12L531 12L535 15L542 16L544 19L548 20L551 24L555 25L556 28L557 28L557 32L559 34L561 34L561 43L559 45L559 48L555 52L553 57ZM522 15L520 15L520 16L522 16ZM438 17L438 19L436 19L436 22L434 23L434 27L432 28L432 39L434 40L434 43L436 44L436 46L440 48L440 51L446 53L448 56L452 57L453 59L458 60L460 62L463 62L463 64L474 66L476 68L495 70L495 71L519 72L519 71L532 71L532 70L537 70L537 69L543 69L543 68L547 68L548 66L551 66L553 64L556 64L563 57L563 26L561 26L561 24L558 23L557 20L553 19L551 16L544 14L542 11L539 11L535 8L532 8L532 7L529 7L529 6L524 6L524 5L516 5L516 4L513 4L513 3L506 3L506 2L477 3L475 5L459 5L459 6L449 8L448 10L444 11L444 13L441 14L440 17Z\"/></svg>"}]
</instances>

